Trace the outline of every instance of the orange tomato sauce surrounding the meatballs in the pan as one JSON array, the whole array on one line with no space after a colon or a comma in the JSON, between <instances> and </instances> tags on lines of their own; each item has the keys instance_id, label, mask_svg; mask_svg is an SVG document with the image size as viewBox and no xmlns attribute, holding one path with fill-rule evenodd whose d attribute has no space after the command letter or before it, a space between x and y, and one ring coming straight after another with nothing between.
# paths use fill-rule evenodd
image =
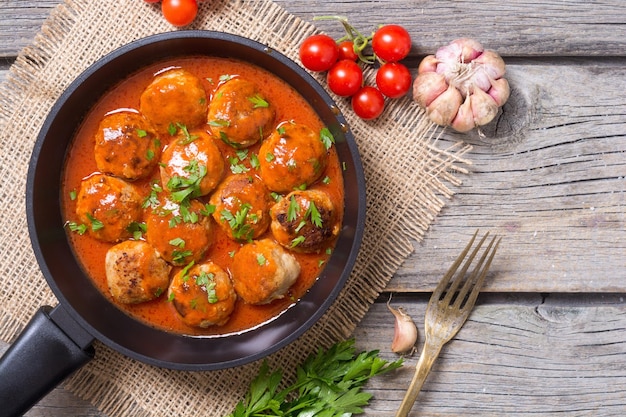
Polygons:
<instances>
[{"instance_id":1,"label":"orange tomato sauce surrounding the meatballs in the pan","mask_svg":"<svg viewBox=\"0 0 626 417\"><path fill-rule=\"evenodd\" d=\"M139 97L144 88L150 84L154 75L169 67L181 67L199 77L207 92L211 97L218 87L219 77L228 75L238 75L254 81L261 93L271 102L276 109L276 125L284 121L294 121L303 123L314 130L323 128L322 121L306 102L306 100L291 86L283 80L277 78L262 68L251 64L216 57L190 57L169 60L151 65L140 72L129 76L123 82L113 87L105 94L89 111L82 125L78 129L66 158L62 187L62 204L66 221L76 221L76 204L71 198L73 192L80 188L83 178L92 175L97 171L94 159L95 132L103 116L113 110L130 108L139 109ZM208 131L208 125L205 127ZM162 146L167 142L160 138ZM230 173L229 158L236 156L236 150L219 139L215 140L224 157L226 172ZM249 148L249 154L257 153L260 144ZM248 158L249 160L249 158ZM247 161L248 161L247 160ZM246 163L249 163L247 162ZM249 165L248 165L249 166ZM250 172L252 173L252 169ZM322 189L328 193L331 200L338 208L339 213L343 213L343 177L341 164L334 146L330 149L330 158L326 172L321 178L329 177L327 184L321 181L312 185L311 189ZM155 170L152 178L135 181L133 184L138 187L143 197L150 194L150 182L159 178L158 169ZM209 195L210 196L210 195ZM203 202L208 202L209 196L200 198ZM213 220L211 220L213 221ZM215 225L214 243L209 249L205 260L211 260L229 272L232 265L232 252L241 247L241 243L228 238L220 227ZM268 230L263 237L271 237ZM93 280L95 286L107 297L111 303L122 309L129 315L166 331L189 334L189 335L223 335L229 333L242 332L257 327L265 322L277 317L289 306L297 303L306 291L318 279L325 262L329 258L326 251L319 254L299 254L293 252L301 266L301 273L296 283L290 288L283 299L275 300L270 304L262 306L248 305L241 300L237 301L235 311L229 321L223 326L211 326L207 329L200 329L187 326L182 322L171 302L167 301L167 292L154 301L140 304L121 304L116 302L109 294L104 260L107 250L113 246L94 239L88 233L79 235L68 230L68 238L72 243L75 255L86 274ZM171 277L180 270L174 268Z\"/></svg>"}]
</instances>

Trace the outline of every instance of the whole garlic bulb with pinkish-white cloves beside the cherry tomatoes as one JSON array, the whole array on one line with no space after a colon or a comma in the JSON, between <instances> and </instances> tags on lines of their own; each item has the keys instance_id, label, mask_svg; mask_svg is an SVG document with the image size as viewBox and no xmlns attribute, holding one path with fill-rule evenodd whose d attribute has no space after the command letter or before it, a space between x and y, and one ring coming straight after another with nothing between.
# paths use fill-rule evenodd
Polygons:
<instances>
[{"instance_id":1,"label":"whole garlic bulb with pinkish-white cloves beside the cherry tomatoes","mask_svg":"<svg viewBox=\"0 0 626 417\"><path fill-rule=\"evenodd\" d=\"M467 132L485 125L508 100L504 60L475 40L457 39L417 69L413 99L440 126Z\"/></svg>"}]
</instances>

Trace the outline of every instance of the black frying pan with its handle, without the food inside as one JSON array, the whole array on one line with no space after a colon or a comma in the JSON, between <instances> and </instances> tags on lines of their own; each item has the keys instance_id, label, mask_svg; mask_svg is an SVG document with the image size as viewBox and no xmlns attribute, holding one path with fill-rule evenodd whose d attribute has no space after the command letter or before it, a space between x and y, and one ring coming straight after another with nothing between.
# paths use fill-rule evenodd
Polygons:
<instances>
[{"instance_id":1,"label":"black frying pan with its handle, without the food inside","mask_svg":"<svg viewBox=\"0 0 626 417\"><path fill-rule=\"evenodd\" d=\"M345 163L345 215L336 249L319 280L275 320L241 334L190 337L158 330L110 303L77 262L61 215L60 182L74 132L112 85L163 59L209 55L265 68L298 90L321 116ZM358 149L325 90L294 62L262 44L211 31L178 31L144 38L105 56L61 95L33 150L26 190L28 229L43 275L59 300L42 307L0 359L0 415L19 415L94 356L94 339L155 366L216 370L267 356L310 328L328 309L354 265L365 222L365 180ZM18 282L16 277L16 285Z\"/></svg>"}]
</instances>

